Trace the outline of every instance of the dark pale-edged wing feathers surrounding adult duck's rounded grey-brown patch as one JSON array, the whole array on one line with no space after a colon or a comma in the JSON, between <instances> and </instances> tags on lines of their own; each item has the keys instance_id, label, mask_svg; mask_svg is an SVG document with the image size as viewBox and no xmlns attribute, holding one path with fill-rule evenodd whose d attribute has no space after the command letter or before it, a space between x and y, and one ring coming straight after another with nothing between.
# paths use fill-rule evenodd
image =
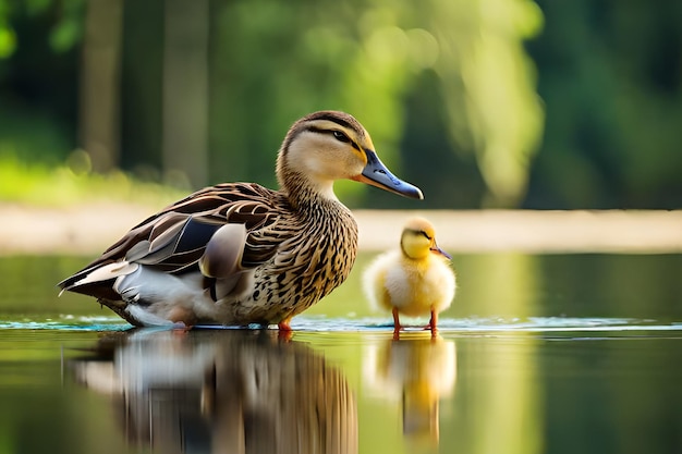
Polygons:
<instances>
[{"instance_id":1,"label":"dark pale-edged wing feathers surrounding adult duck's rounded grey-brown patch","mask_svg":"<svg viewBox=\"0 0 682 454\"><path fill-rule=\"evenodd\" d=\"M66 287L95 268L121 260L144 263L166 272L195 269L214 233L226 223L240 223L248 232L242 266L270 259L278 246L271 231L290 209L278 192L251 183L226 183L198 191L134 226L98 259L60 282ZM266 238L266 240L264 240Z\"/></svg>"}]
</instances>

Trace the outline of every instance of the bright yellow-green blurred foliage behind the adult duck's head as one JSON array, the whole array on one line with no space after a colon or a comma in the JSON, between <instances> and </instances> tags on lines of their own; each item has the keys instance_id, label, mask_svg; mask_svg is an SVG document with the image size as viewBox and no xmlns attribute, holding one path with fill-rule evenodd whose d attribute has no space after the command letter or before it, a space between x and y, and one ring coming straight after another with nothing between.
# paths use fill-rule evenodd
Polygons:
<instances>
[{"instance_id":1,"label":"bright yellow-green blurred foliage behind the adult duck's head","mask_svg":"<svg viewBox=\"0 0 682 454\"><path fill-rule=\"evenodd\" d=\"M435 185L425 187L431 207L514 205L525 189L527 157L535 149L541 113L526 77L500 81L478 75L490 66L508 74L526 73L520 44L529 29L537 28L540 15L527 1L487 3L374 1L331 9L327 2L231 3L220 10L214 27L219 34L217 46L228 46L216 49L220 60L215 64L212 93L224 98L216 103L220 113L212 118L221 124L224 119L228 124L244 116L252 120L234 134L220 135L216 148L273 149L281 140L282 124L307 111L341 109L358 116L387 163L406 180L426 186L431 181L447 182L459 162L474 171L473 184L463 188L465 198ZM485 15L489 8L510 10L514 21ZM254 59L254 50L269 58ZM496 89L501 99L487 97ZM434 90L438 95L427 110L412 114L409 100ZM525 114L492 112L500 101ZM440 137L407 139L407 131L433 122L443 125ZM513 131L512 124L517 126ZM433 159L424 159L426 155ZM252 156L249 163L241 154L221 155L224 161L218 169L271 180L271 170L263 165L264 155ZM435 165L442 160L454 162L443 172ZM372 193L372 197L364 204L405 206L382 194Z\"/></svg>"}]
</instances>

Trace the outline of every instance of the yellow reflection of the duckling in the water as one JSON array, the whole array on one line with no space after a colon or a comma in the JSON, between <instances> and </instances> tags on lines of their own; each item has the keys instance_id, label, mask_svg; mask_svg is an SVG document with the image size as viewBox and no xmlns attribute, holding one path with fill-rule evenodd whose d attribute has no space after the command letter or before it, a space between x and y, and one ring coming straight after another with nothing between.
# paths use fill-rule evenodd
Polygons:
<instances>
[{"instance_id":1,"label":"yellow reflection of the duckling in the water","mask_svg":"<svg viewBox=\"0 0 682 454\"><path fill-rule=\"evenodd\" d=\"M438 444L439 403L456 382L454 342L419 334L387 340L369 347L364 372L375 395L402 405L407 439Z\"/></svg>"}]
</instances>

